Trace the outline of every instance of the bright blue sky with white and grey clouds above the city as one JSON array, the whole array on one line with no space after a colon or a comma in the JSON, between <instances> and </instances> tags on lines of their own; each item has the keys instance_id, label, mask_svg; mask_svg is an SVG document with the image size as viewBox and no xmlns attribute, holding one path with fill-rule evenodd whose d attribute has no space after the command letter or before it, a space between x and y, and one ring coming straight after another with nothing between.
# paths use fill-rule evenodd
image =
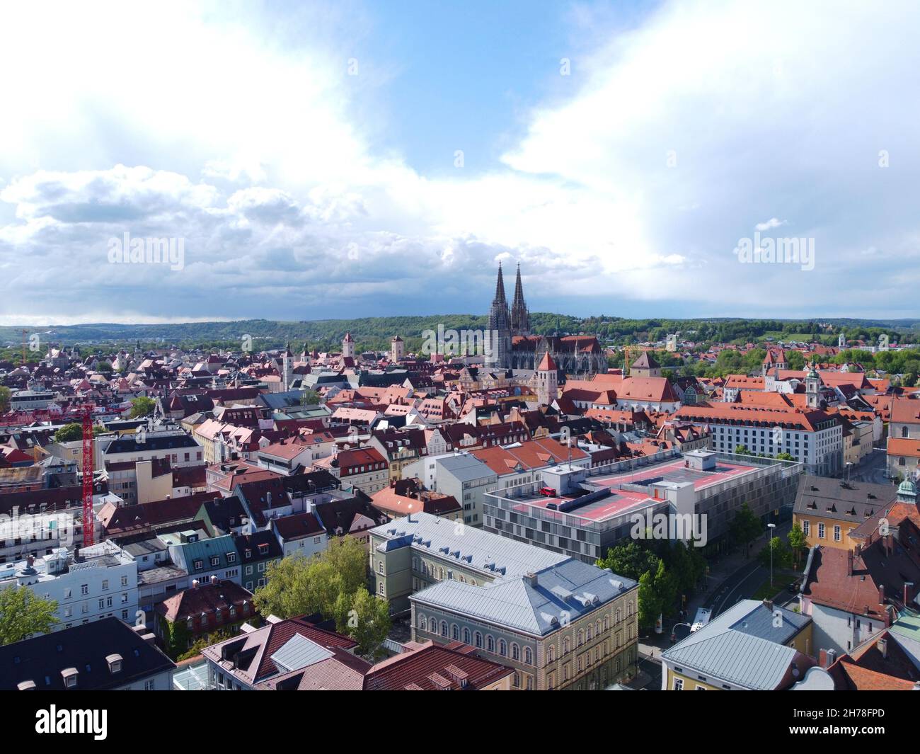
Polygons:
<instances>
[{"instance_id":1,"label":"bright blue sky with white and grey clouds above the city","mask_svg":"<svg viewBox=\"0 0 920 754\"><path fill-rule=\"evenodd\" d=\"M897 0L6 4L0 324L485 313L500 261L532 311L915 317L918 28Z\"/></svg>"}]
</instances>

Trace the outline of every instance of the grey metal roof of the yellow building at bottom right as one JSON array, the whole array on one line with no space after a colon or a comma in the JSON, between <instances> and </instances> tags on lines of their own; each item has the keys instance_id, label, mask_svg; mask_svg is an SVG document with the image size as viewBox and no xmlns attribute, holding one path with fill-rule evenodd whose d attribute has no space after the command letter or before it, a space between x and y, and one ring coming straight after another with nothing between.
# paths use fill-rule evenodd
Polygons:
<instances>
[{"instance_id":1,"label":"grey metal roof of the yellow building at bottom right","mask_svg":"<svg viewBox=\"0 0 920 754\"><path fill-rule=\"evenodd\" d=\"M773 627L773 611L782 624ZM776 689L797 654L785 643L811 619L792 610L742 599L684 641L661 654L671 666L689 667L707 678L747 689Z\"/></svg>"}]
</instances>

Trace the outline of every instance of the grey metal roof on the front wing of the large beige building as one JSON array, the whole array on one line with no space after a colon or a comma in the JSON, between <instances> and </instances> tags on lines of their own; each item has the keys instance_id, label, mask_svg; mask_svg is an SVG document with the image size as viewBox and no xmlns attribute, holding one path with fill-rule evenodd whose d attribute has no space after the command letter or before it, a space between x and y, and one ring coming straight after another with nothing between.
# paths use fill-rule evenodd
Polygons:
<instances>
[{"instance_id":1,"label":"grey metal roof on the front wing of the large beige building","mask_svg":"<svg viewBox=\"0 0 920 754\"><path fill-rule=\"evenodd\" d=\"M513 630L546 635L598 609L636 586L624 576L569 558L535 574L504 578L485 586L447 580L410 597Z\"/></svg>"}]
</instances>

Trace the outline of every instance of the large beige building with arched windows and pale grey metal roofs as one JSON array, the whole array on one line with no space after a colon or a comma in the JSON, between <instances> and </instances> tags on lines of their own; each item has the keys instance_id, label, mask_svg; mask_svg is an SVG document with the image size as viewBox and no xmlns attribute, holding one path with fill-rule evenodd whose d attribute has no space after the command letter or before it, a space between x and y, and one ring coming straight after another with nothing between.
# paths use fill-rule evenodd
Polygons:
<instances>
[{"instance_id":1,"label":"large beige building with arched windows and pale grey metal roofs","mask_svg":"<svg viewBox=\"0 0 920 754\"><path fill-rule=\"evenodd\" d=\"M512 690L635 674L638 585L609 570L427 514L372 529L370 562L413 641L468 644L513 668Z\"/></svg>"}]
</instances>

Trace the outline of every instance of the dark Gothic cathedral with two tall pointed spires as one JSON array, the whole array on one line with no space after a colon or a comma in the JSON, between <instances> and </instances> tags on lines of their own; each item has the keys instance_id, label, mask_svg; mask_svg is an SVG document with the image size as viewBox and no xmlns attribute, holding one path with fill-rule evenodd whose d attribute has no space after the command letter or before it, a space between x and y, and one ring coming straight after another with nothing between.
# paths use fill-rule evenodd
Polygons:
<instances>
[{"instance_id":1,"label":"dark Gothic cathedral with two tall pointed spires","mask_svg":"<svg viewBox=\"0 0 920 754\"><path fill-rule=\"evenodd\" d=\"M604 349L592 335L535 335L530 331L530 311L523 299L521 265L514 281L511 307L505 298L505 282L499 262L495 298L489 307L489 343L486 367L491 369L536 369L545 354L570 375L604 372Z\"/></svg>"}]
</instances>

